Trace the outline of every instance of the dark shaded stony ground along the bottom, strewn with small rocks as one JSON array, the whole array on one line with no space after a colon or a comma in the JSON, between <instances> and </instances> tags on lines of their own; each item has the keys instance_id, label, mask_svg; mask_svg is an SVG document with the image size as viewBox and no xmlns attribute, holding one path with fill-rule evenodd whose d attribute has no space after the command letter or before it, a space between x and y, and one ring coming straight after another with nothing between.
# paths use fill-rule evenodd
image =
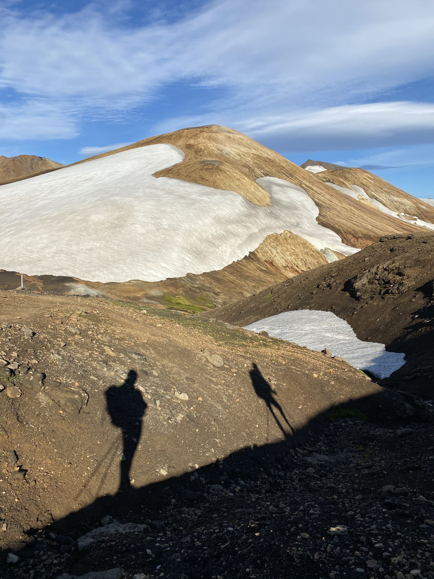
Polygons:
<instances>
[{"instance_id":1,"label":"dark shaded stony ground along the bottom, strewn with small rocks","mask_svg":"<svg viewBox=\"0 0 434 579\"><path fill-rule=\"evenodd\" d=\"M259 471L194 470L197 499L156 520L107 512L90 533L40 530L8 577L434 577L433 463L431 426L340 419Z\"/></svg>"}]
</instances>

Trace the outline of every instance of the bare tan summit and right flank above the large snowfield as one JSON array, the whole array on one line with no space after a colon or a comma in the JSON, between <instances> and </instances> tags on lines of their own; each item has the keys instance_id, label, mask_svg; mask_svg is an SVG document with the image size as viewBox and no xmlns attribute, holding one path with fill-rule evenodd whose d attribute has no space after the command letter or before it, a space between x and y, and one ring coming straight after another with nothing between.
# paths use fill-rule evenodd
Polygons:
<instances>
[{"instance_id":1,"label":"bare tan summit and right flank above the large snowfield","mask_svg":"<svg viewBox=\"0 0 434 579\"><path fill-rule=\"evenodd\" d=\"M344 193L331 188L282 157L238 131L219 125L191 127L174 133L150 137L116 151L91 159L113 155L138 146L168 143L185 153L185 160L157 171L156 177L171 177L218 189L236 191L252 203L268 206L270 196L256 183L259 177L278 177L306 190L319 208L318 223L335 231L344 243L363 248L381 235L420 230L382 214L375 207L361 205ZM417 200L415 201L417 203ZM434 222L434 208L431 210Z\"/></svg>"}]
</instances>

